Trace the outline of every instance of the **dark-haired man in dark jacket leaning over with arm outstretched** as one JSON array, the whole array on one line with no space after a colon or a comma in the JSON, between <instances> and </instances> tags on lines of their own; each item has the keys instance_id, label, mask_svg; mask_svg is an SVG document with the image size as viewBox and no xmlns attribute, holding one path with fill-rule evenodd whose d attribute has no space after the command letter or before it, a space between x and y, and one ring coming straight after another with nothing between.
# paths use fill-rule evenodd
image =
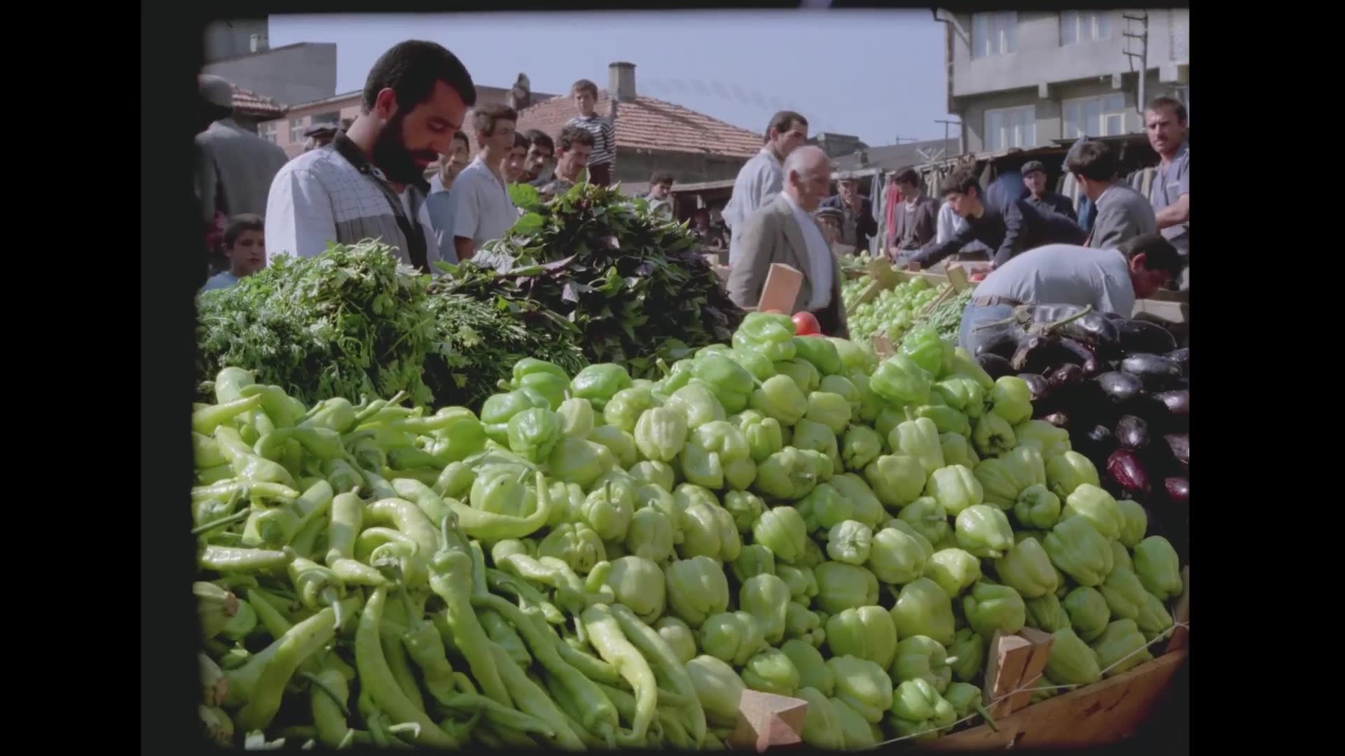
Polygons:
<instances>
[{"instance_id":1,"label":"dark-haired man in dark jacket leaning over with arm outstretched","mask_svg":"<svg viewBox=\"0 0 1345 756\"><path fill-rule=\"evenodd\" d=\"M999 268L1029 249L1048 243L1084 243L1083 229L1065 215L1040 210L1024 199L1010 199L1002 206L983 200L975 165L954 171L943 184L943 196L966 221L966 229L943 243L935 242L905 256L905 261L931 268L979 241L995 250L990 266Z\"/></svg>"}]
</instances>

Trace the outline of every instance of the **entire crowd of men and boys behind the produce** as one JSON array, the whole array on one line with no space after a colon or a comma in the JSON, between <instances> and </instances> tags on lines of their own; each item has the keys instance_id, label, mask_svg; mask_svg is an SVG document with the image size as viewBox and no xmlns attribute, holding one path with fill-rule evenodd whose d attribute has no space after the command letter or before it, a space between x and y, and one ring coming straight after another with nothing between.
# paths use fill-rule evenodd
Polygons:
<instances>
[{"instance_id":1,"label":"entire crowd of men and boys behind the produce","mask_svg":"<svg viewBox=\"0 0 1345 756\"><path fill-rule=\"evenodd\" d=\"M364 238L381 238L402 262L434 273L434 262L471 260L514 226L512 187L530 186L546 199L581 182L612 182L616 130L596 113L597 86L588 79L570 89L576 116L554 139L519 133L512 108L476 106L476 87L457 56L432 42L402 42L370 70L360 113L344 128L315 126L309 149L288 161L277 145L233 120L227 82L200 82L198 196L207 243L225 254L208 288L250 274L266 254L315 256L331 242ZM1151 293L1150 284L1166 285L1182 272L1189 257L1186 110L1176 100L1154 100L1145 126L1161 157L1151 202L1118 180L1116 155L1102 141L1081 140L1065 159L1087 198L1083 217L1069 199L1046 191L1040 161L1022 165L1021 180L1013 179L1021 187L1007 191L982 187L974 165L959 168L940 186L942 206L924 194L919 174L905 169L894 176L900 198L884 252L921 268L981 252L993 273L978 295L1010 277L1038 288L1069 278L1073 289L1092 292L1099 308L1124 307L1112 291L1124 284L1132 305L1134 296ZM857 182L842 179L831 194L830 159L807 139L804 116L776 113L761 151L738 172L722 211L728 291L740 305L755 307L771 264L790 264L804 274L795 311L814 312L826 332L843 335L837 253L868 250L878 226L873 200ZM670 174L651 176L644 196L651 210L672 215L671 188ZM705 209L694 214L691 230L707 250L725 246ZM1138 278L1122 272L1134 273L1135 265ZM1161 276L1149 276L1155 270ZM978 297L968 312L1042 296L1022 287L1006 291L1011 295Z\"/></svg>"}]
</instances>

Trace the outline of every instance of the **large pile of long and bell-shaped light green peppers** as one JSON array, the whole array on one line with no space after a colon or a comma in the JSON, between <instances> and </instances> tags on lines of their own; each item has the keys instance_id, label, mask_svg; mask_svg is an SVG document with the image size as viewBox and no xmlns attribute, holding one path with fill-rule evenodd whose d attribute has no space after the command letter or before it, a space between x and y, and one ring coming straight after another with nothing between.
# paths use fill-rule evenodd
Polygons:
<instances>
[{"instance_id":1,"label":"large pile of long and bell-shaped light green peppers","mask_svg":"<svg viewBox=\"0 0 1345 756\"><path fill-rule=\"evenodd\" d=\"M1185 587L1026 385L937 338L878 361L751 313L659 381L521 361L471 408L192 412L202 724L219 743L718 749L744 690L868 748L1151 658Z\"/></svg>"}]
</instances>

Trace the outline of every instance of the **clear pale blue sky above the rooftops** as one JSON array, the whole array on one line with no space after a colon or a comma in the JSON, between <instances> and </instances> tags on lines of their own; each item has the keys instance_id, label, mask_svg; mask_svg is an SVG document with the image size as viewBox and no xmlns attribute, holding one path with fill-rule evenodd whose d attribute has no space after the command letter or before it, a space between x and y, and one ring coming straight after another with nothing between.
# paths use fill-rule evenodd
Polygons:
<instances>
[{"instance_id":1,"label":"clear pale blue sky above the rooftops","mask_svg":"<svg viewBox=\"0 0 1345 756\"><path fill-rule=\"evenodd\" d=\"M877 147L943 139L933 121L948 117L944 27L929 11L270 16L272 47L338 44L338 93L363 87L404 39L444 44L480 85L511 86L525 73L550 94L577 78L605 87L607 65L627 61L640 94L755 132L792 109L811 133Z\"/></svg>"}]
</instances>

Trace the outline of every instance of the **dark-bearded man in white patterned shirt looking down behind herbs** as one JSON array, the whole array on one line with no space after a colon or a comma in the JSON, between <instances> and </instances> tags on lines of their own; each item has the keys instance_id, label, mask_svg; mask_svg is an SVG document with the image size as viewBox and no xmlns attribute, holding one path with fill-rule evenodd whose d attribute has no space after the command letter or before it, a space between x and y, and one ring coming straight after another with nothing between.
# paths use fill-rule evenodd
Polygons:
<instances>
[{"instance_id":1,"label":"dark-bearded man in white patterned shirt looking down behind herbs","mask_svg":"<svg viewBox=\"0 0 1345 756\"><path fill-rule=\"evenodd\" d=\"M402 262L429 273L438 245L424 194L412 190L452 151L453 132L475 102L472 77L456 55L433 42L394 46L369 71L350 129L276 175L266 249L313 257L331 242L382 239Z\"/></svg>"}]
</instances>

